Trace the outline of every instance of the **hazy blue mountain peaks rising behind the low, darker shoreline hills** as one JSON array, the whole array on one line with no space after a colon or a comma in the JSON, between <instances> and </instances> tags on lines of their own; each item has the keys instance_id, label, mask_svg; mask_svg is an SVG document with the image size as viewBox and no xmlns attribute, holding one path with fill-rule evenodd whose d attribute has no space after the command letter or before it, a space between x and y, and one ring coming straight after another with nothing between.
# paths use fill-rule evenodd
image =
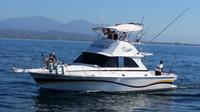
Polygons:
<instances>
[{"instance_id":1,"label":"hazy blue mountain peaks rising behind the low, darker shoreline hills","mask_svg":"<svg viewBox=\"0 0 200 112\"><path fill-rule=\"evenodd\" d=\"M31 31L62 31L66 33L93 34L91 29L98 26L86 20L75 20L68 23L49 19L43 16L8 18L0 20L0 29Z\"/></svg>"}]
</instances>

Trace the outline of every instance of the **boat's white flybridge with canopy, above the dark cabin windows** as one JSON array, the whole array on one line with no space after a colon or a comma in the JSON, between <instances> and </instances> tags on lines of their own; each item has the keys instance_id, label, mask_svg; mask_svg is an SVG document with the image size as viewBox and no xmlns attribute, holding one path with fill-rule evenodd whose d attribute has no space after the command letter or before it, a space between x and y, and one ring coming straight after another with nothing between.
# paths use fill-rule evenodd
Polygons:
<instances>
[{"instance_id":1,"label":"boat's white flybridge with canopy, above the dark cabin windows","mask_svg":"<svg viewBox=\"0 0 200 112\"><path fill-rule=\"evenodd\" d=\"M99 39L91 44L86 52L102 54L108 57L144 57L128 41L128 37L132 32L140 32L143 28L144 25L139 23L125 23L93 28L92 30L103 39Z\"/></svg>"}]
</instances>

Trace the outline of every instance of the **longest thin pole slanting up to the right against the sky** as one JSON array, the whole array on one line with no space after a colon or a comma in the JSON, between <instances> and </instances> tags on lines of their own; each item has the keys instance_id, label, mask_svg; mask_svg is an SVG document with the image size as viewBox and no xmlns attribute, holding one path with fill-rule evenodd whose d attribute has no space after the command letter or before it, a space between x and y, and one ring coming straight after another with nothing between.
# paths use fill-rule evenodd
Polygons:
<instances>
[{"instance_id":1,"label":"longest thin pole slanting up to the right against the sky","mask_svg":"<svg viewBox=\"0 0 200 112\"><path fill-rule=\"evenodd\" d=\"M171 21L164 29L162 29L156 36L153 37L153 39L150 41L152 42L155 40L160 34L162 34L165 30L167 30L173 23L175 23L186 11L188 11L189 8L186 8L183 10L173 21Z\"/></svg>"}]
</instances>

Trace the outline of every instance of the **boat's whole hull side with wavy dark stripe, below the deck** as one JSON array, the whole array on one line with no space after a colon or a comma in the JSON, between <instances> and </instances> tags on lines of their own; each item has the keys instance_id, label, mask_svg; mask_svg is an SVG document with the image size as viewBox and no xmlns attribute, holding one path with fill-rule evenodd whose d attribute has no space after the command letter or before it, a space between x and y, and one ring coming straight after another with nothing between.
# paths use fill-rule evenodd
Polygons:
<instances>
[{"instance_id":1,"label":"boat's whole hull side with wavy dark stripe, below the deck","mask_svg":"<svg viewBox=\"0 0 200 112\"><path fill-rule=\"evenodd\" d=\"M53 74L35 74L31 76L44 89L65 91L152 91L176 88L173 76L153 77L86 77Z\"/></svg>"}]
</instances>

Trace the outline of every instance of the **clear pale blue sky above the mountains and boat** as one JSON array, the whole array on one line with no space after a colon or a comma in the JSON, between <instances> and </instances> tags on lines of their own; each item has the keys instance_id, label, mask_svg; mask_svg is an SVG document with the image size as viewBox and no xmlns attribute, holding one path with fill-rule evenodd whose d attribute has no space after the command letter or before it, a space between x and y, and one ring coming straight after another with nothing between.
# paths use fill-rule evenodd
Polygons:
<instances>
[{"instance_id":1,"label":"clear pale blue sky above the mountains and boat","mask_svg":"<svg viewBox=\"0 0 200 112\"><path fill-rule=\"evenodd\" d=\"M151 39L185 8L189 10L155 41L200 44L200 0L0 0L0 19L45 16L67 23L85 19L106 24L140 22Z\"/></svg>"}]
</instances>

